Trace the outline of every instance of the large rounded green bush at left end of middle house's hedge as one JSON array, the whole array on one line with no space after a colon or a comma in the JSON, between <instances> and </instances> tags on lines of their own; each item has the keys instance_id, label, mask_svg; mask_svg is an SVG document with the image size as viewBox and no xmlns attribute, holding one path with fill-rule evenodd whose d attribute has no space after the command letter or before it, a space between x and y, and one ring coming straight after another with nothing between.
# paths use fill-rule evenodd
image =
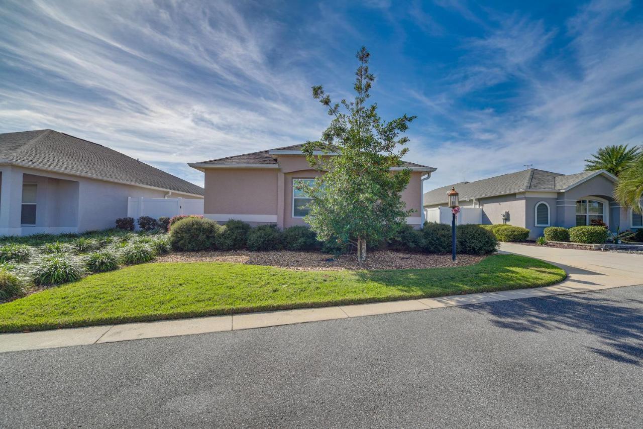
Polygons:
<instances>
[{"instance_id":1,"label":"large rounded green bush at left end of middle house's hedge","mask_svg":"<svg viewBox=\"0 0 643 429\"><path fill-rule=\"evenodd\" d=\"M181 251L212 249L221 225L203 217L186 217L172 225L170 244Z\"/></svg>"}]
</instances>

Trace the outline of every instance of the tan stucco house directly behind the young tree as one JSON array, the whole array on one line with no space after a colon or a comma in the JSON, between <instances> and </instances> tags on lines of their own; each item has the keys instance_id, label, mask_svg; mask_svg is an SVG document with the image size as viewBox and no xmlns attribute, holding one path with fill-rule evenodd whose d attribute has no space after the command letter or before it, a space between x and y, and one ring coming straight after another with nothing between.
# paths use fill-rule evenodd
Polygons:
<instances>
[{"instance_id":1,"label":"tan stucco house directly behind the young tree","mask_svg":"<svg viewBox=\"0 0 643 429\"><path fill-rule=\"evenodd\" d=\"M320 175L306 161L302 145L192 163L190 167L205 173L205 217L219 222L240 219L251 224L275 223L278 228L305 224L302 218L309 211L310 199L297 190L293 192L293 183ZM404 168L411 169L412 174L402 198L406 208L415 209L406 221L419 228L424 223L422 183L435 169L404 161L403 167L392 170Z\"/></svg>"}]
</instances>

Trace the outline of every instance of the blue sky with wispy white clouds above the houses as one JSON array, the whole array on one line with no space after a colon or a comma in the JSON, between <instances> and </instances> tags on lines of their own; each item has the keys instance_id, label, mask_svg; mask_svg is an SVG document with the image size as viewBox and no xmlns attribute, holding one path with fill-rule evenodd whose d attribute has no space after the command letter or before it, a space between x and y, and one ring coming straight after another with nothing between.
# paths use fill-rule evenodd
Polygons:
<instances>
[{"instance_id":1,"label":"blue sky with wispy white clouds above the houses","mask_svg":"<svg viewBox=\"0 0 643 429\"><path fill-rule=\"evenodd\" d=\"M350 97L362 45L382 116L418 116L427 190L643 143L640 2L4 0L0 28L0 132L67 132L199 185L186 163L319 138L310 87Z\"/></svg>"}]
</instances>

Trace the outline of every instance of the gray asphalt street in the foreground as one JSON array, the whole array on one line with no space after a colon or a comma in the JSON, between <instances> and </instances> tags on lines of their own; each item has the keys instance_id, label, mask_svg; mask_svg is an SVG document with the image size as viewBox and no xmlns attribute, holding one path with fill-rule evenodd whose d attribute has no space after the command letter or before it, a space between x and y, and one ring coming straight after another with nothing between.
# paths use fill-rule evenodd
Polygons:
<instances>
[{"instance_id":1,"label":"gray asphalt street in the foreground","mask_svg":"<svg viewBox=\"0 0 643 429\"><path fill-rule=\"evenodd\" d=\"M643 286L0 354L6 428L643 426Z\"/></svg>"}]
</instances>

